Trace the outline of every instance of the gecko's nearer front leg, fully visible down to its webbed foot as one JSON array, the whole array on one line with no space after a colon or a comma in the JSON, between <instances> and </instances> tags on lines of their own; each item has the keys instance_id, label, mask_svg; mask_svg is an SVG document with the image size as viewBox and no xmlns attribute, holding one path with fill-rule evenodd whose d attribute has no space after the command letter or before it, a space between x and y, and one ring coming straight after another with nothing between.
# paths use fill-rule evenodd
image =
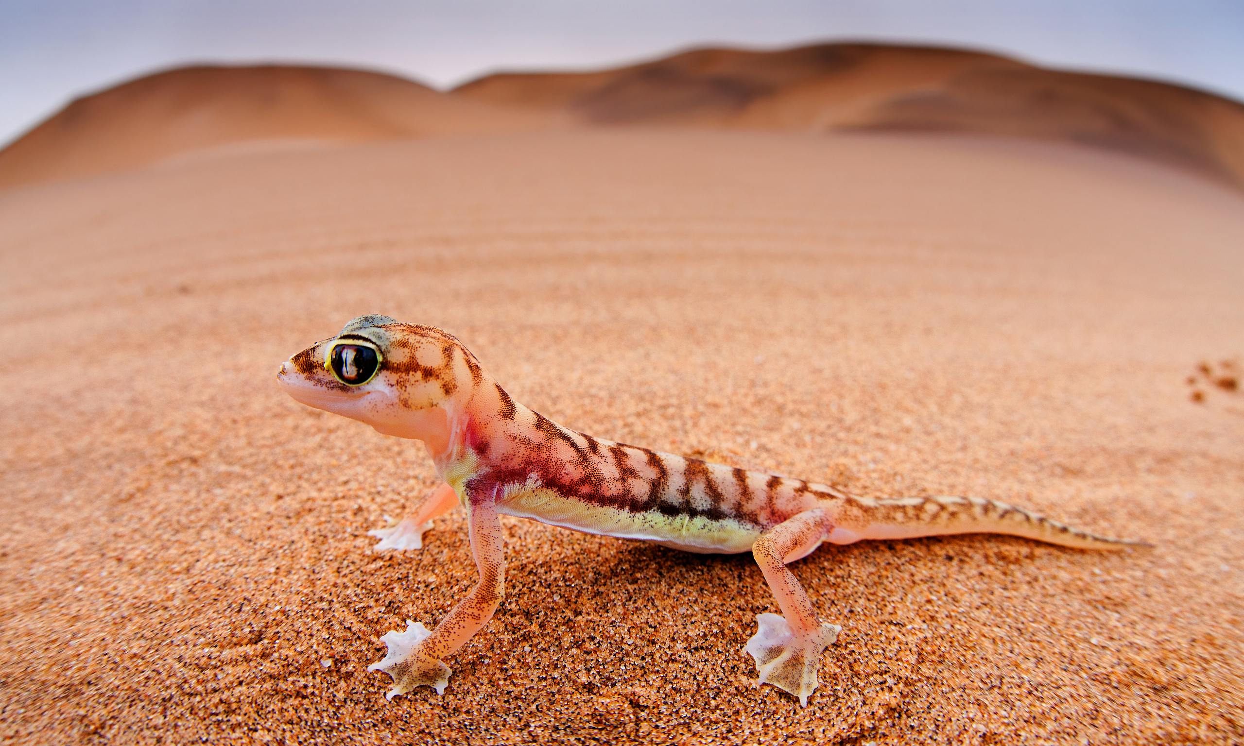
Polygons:
<instances>
[{"instance_id":1,"label":"gecko's nearer front leg, fully visible down to its webbed foot","mask_svg":"<svg viewBox=\"0 0 1244 746\"><path fill-rule=\"evenodd\" d=\"M415 686L432 686L437 694L449 683L449 666L442 658L453 655L466 644L489 619L505 592L505 540L501 522L491 496L468 497L470 546L479 569L479 581L465 598L450 609L430 633L423 624L407 622L403 632L389 632L381 638L388 645L383 660L367 666L393 678L393 688L384 696L393 699Z\"/></svg>"}]
</instances>

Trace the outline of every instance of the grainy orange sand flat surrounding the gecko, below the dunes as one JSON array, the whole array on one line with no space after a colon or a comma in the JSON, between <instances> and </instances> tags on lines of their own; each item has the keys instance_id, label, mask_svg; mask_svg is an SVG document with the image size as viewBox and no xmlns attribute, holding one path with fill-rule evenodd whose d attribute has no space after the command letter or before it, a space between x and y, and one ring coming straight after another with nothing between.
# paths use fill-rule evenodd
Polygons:
<instances>
[{"instance_id":1,"label":"grainy orange sand flat surrounding the gecko, below the dunes","mask_svg":"<svg viewBox=\"0 0 1244 746\"><path fill-rule=\"evenodd\" d=\"M1240 246L1212 182L903 136L474 134L0 193L0 739L1239 742L1244 394L1198 366L1240 366ZM597 435L1156 547L825 547L795 571L843 632L800 709L751 685L746 556L506 520L496 618L444 696L389 704L377 638L474 582L464 518L372 553L430 465L274 379L364 312Z\"/></svg>"}]
</instances>

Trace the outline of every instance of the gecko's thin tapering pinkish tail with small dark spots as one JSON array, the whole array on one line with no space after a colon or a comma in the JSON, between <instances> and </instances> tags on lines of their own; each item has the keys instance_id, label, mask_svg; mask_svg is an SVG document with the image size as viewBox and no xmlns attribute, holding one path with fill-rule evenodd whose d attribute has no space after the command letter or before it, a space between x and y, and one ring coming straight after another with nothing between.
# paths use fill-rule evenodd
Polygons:
<instances>
[{"instance_id":1,"label":"gecko's thin tapering pinkish tail with small dark spots","mask_svg":"<svg viewBox=\"0 0 1244 746\"><path fill-rule=\"evenodd\" d=\"M1098 536L1045 516L983 497L848 497L829 541L916 538L950 533L1005 533L1079 550L1126 550L1142 541Z\"/></svg>"}]
</instances>

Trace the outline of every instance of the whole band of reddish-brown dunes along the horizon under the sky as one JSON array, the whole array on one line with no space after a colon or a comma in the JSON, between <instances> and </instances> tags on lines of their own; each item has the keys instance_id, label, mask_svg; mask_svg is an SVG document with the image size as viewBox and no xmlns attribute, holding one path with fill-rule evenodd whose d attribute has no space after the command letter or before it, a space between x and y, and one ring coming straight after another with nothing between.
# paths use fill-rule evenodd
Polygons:
<instances>
[{"instance_id":1,"label":"whole band of reddish-brown dunes along the horizon under the sky","mask_svg":"<svg viewBox=\"0 0 1244 746\"><path fill-rule=\"evenodd\" d=\"M80 98L4 150L0 189L233 145L565 127L953 132L1127 153L1244 185L1244 104L968 50L699 48L588 72L500 72L448 92L331 67L185 67Z\"/></svg>"}]
</instances>

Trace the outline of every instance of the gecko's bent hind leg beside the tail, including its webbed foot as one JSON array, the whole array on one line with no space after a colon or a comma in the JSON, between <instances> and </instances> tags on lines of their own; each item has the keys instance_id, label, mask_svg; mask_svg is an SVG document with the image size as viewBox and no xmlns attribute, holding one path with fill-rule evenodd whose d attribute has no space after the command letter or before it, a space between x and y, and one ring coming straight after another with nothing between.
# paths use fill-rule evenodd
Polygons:
<instances>
[{"instance_id":1,"label":"gecko's bent hind leg beside the tail, including its webbed foot","mask_svg":"<svg viewBox=\"0 0 1244 746\"><path fill-rule=\"evenodd\" d=\"M756 659L760 684L773 684L794 694L805 707L817 685L821 652L837 639L842 628L821 622L786 563L815 550L827 531L829 513L814 509L765 531L751 546L781 615L756 617L760 629L744 650Z\"/></svg>"}]
</instances>

